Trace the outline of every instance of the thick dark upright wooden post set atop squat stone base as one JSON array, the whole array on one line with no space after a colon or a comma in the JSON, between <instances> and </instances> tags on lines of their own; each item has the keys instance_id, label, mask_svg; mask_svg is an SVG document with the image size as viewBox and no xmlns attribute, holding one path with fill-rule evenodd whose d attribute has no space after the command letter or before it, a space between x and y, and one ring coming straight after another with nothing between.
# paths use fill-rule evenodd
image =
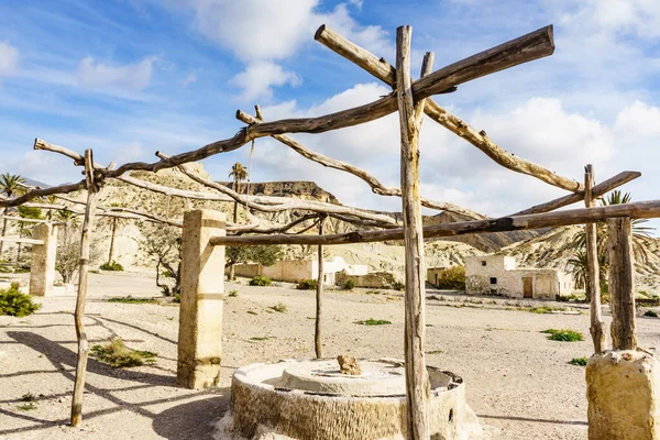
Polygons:
<instances>
[{"instance_id":1,"label":"thick dark upright wooden post set atop squat stone base","mask_svg":"<svg viewBox=\"0 0 660 440\"><path fill-rule=\"evenodd\" d=\"M635 264L630 218L607 220L612 349L635 350Z\"/></svg>"}]
</instances>

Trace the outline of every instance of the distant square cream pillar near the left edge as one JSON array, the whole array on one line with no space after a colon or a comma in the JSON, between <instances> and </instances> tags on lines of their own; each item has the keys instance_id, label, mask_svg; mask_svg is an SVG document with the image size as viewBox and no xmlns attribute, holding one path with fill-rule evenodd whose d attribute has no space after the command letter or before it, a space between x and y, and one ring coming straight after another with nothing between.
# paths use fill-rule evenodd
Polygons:
<instances>
[{"instance_id":1,"label":"distant square cream pillar near the left edge","mask_svg":"<svg viewBox=\"0 0 660 440\"><path fill-rule=\"evenodd\" d=\"M57 228L40 223L32 229L32 238L44 244L32 245L30 265L30 295L46 296L53 292L55 258L57 256Z\"/></svg>"}]
</instances>

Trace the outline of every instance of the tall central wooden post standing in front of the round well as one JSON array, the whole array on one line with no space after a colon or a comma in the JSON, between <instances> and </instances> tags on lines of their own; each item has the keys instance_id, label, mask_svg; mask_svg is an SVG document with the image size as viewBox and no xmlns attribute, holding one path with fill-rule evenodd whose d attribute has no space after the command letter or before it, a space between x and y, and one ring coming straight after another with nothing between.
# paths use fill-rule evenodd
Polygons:
<instances>
[{"instance_id":1,"label":"tall central wooden post standing in front of the round well","mask_svg":"<svg viewBox=\"0 0 660 440\"><path fill-rule=\"evenodd\" d=\"M406 251L405 360L406 422L408 439L428 440L430 385L426 370L425 342L425 261L419 196L419 128L424 100L415 106L410 79L411 26L396 32L396 95L402 138L402 199ZM432 54L425 57L422 76L430 70Z\"/></svg>"}]
</instances>

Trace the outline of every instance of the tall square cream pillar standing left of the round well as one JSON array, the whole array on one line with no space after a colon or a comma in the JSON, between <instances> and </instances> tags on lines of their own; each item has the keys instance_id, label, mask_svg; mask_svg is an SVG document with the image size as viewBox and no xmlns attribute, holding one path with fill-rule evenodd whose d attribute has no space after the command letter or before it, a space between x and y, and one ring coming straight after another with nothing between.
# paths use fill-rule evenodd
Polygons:
<instances>
[{"instance_id":1,"label":"tall square cream pillar standing left of the round well","mask_svg":"<svg viewBox=\"0 0 660 440\"><path fill-rule=\"evenodd\" d=\"M222 212L184 215L176 381L188 388L215 386L220 378L224 246L209 244L215 235L224 235Z\"/></svg>"}]
</instances>

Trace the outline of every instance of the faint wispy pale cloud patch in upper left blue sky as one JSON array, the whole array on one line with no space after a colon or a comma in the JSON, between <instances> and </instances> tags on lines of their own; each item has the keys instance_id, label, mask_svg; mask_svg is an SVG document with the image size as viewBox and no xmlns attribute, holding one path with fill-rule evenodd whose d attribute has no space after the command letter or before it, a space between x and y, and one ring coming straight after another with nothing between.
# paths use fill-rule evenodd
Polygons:
<instances>
[{"instance_id":1,"label":"faint wispy pale cloud patch in upper left blue sky","mask_svg":"<svg viewBox=\"0 0 660 440\"><path fill-rule=\"evenodd\" d=\"M138 63L110 66L88 56L78 66L78 84L90 89L142 91L151 82L156 59L148 56Z\"/></svg>"}]
</instances>

